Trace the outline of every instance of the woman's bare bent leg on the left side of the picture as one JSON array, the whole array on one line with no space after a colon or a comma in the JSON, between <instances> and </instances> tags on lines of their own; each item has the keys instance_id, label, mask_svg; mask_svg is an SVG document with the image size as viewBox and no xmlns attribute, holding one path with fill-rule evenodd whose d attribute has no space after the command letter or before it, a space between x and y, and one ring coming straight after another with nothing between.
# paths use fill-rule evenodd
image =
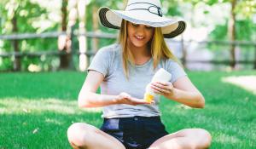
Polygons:
<instances>
[{"instance_id":1,"label":"woman's bare bent leg on the left side of the picture","mask_svg":"<svg viewBox=\"0 0 256 149\"><path fill-rule=\"evenodd\" d=\"M87 123L73 123L67 138L74 149L125 149L119 140Z\"/></svg>"}]
</instances>

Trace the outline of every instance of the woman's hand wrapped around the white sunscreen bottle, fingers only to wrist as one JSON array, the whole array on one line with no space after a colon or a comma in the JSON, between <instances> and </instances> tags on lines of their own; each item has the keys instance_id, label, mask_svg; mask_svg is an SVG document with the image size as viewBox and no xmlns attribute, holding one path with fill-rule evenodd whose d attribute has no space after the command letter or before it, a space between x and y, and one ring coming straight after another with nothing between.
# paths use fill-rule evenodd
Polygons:
<instances>
[{"instance_id":1,"label":"woman's hand wrapped around the white sunscreen bottle, fingers only to wrist","mask_svg":"<svg viewBox=\"0 0 256 149\"><path fill-rule=\"evenodd\" d=\"M170 82L154 82L150 84L154 93L164 96L172 96L174 93L174 87Z\"/></svg>"}]
</instances>

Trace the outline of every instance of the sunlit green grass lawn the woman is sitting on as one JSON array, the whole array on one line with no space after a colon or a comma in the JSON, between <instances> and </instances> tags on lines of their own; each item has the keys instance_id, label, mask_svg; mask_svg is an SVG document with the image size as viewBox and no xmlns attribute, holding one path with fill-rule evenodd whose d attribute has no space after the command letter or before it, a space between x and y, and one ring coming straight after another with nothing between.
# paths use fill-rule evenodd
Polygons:
<instances>
[{"instance_id":1,"label":"sunlit green grass lawn the woman is sitting on","mask_svg":"<svg viewBox=\"0 0 256 149\"><path fill-rule=\"evenodd\" d=\"M163 99L162 120L169 132L207 129L211 148L256 148L256 95L223 77L256 72L189 72L206 98L205 109L191 109ZM67 128L74 122L102 124L98 109L79 109L81 72L1 73L0 149L70 148Z\"/></svg>"}]
</instances>

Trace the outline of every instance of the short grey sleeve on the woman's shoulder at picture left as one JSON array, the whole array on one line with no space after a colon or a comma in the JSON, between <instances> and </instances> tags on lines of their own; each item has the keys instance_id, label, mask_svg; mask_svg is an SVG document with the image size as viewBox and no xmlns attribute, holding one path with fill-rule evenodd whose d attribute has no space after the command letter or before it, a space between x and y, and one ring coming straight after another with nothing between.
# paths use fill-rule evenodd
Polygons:
<instances>
[{"instance_id":1,"label":"short grey sleeve on the woman's shoulder at picture left","mask_svg":"<svg viewBox=\"0 0 256 149\"><path fill-rule=\"evenodd\" d=\"M99 49L94 58L92 59L87 71L96 71L102 73L104 77L108 76L111 51L105 48Z\"/></svg>"}]
</instances>

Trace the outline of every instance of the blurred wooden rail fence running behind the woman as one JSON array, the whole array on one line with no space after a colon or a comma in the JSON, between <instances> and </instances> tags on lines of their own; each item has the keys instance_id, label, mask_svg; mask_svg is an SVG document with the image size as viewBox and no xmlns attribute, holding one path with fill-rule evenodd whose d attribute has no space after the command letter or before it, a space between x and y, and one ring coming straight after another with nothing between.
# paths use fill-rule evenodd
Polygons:
<instances>
[{"instance_id":1,"label":"blurred wooden rail fence running behind the woman","mask_svg":"<svg viewBox=\"0 0 256 149\"><path fill-rule=\"evenodd\" d=\"M24 33L24 34L13 34L13 35L0 35L0 40L24 40L24 39L34 39L34 38L57 38L61 35L67 35L66 32L45 32L45 33ZM114 39L117 37L116 34L108 34L108 33L95 33L95 32L86 32L84 34L79 34L78 32L72 32L72 36L78 37L78 36L85 36L85 37L90 37L90 38L111 38ZM72 38L73 40L73 38ZM253 64L253 68L256 69L256 43L252 42L241 42L241 41L236 41L236 42L230 42L230 41L202 41L202 42L197 42L197 41L176 41L176 40L170 40L171 42L178 42L181 43L181 45L184 44L189 44L189 43L199 43L199 44L218 44L218 45L224 45L224 46L230 46L230 45L235 45L235 46L252 46L254 47L254 60L236 60L237 64ZM72 41L73 43L73 41ZM88 52L81 53L79 52L78 49L73 49L73 46L71 47L72 54L85 54L88 58L90 56L94 55L95 50L87 50ZM183 47L183 50L184 47ZM45 50L45 51L40 51L38 49L38 52L9 52L9 53L4 53L0 51L0 57L38 57L41 55L46 55L46 56L60 56L61 54L67 54L65 52L61 52L60 50ZM229 65L230 60L186 60L185 57L182 57L182 60L184 63L209 63L209 64L214 64L214 65ZM184 64L186 66L186 64Z\"/></svg>"}]
</instances>

